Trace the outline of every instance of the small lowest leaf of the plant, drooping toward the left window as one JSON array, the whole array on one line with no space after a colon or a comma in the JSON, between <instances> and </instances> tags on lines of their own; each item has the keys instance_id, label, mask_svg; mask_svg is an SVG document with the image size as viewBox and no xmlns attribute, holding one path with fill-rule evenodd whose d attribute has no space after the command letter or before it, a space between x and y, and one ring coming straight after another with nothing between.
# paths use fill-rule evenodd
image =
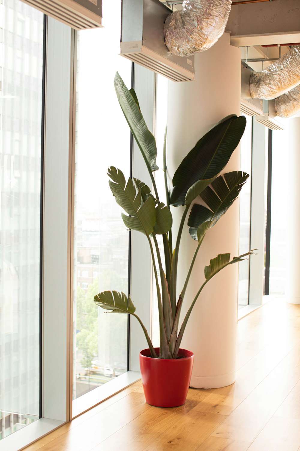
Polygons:
<instances>
[{"instance_id":1,"label":"small lowest leaf of the plant, drooping toward the left window","mask_svg":"<svg viewBox=\"0 0 300 451\"><path fill-rule=\"evenodd\" d=\"M120 293L119 291L102 291L102 293L94 296L94 303L104 308L104 310L111 310L116 313L135 312L130 296L127 298L125 293Z\"/></svg>"}]
</instances>

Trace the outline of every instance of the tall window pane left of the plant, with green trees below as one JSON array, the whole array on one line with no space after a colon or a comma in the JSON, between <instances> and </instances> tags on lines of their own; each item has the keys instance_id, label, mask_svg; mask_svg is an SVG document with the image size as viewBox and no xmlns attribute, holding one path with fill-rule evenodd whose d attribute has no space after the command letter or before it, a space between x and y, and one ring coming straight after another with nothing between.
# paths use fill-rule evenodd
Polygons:
<instances>
[{"instance_id":1,"label":"tall window pane left of the plant, with green trees below","mask_svg":"<svg viewBox=\"0 0 300 451\"><path fill-rule=\"evenodd\" d=\"M108 185L107 168L130 174L130 129L116 98L121 0L103 0L105 28L78 32L76 93L73 399L127 370L127 315L104 313L94 295L128 291L128 231Z\"/></svg>"}]
</instances>

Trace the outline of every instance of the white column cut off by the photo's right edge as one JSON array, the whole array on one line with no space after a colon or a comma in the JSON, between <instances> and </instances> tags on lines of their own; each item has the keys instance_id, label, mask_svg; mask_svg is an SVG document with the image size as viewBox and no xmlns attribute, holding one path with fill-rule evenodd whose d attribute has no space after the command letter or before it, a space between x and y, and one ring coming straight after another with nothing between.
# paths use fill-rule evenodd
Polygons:
<instances>
[{"instance_id":1,"label":"white column cut off by the photo's right edge","mask_svg":"<svg viewBox=\"0 0 300 451\"><path fill-rule=\"evenodd\" d=\"M288 229L287 229L287 275L286 300L300 304L300 118L288 121Z\"/></svg>"}]
</instances>

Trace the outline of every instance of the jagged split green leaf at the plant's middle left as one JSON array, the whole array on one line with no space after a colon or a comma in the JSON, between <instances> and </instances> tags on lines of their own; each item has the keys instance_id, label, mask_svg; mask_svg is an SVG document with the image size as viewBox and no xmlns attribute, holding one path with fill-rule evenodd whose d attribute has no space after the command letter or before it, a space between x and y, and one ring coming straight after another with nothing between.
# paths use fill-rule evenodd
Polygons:
<instances>
[{"instance_id":1,"label":"jagged split green leaf at the plant's middle left","mask_svg":"<svg viewBox=\"0 0 300 451\"><path fill-rule=\"evenodd\" d=\"M155 204L151 196L143 202L140 189L137 189L131 179L125 184L125 177L121 170L114 166L108 168L107 174L112 180L109 180L109 186L116 202L124 208L122 219L126 227L131 230L138 230L145 235L153 232L156 224Z\"/></svg>"}]
</instances>

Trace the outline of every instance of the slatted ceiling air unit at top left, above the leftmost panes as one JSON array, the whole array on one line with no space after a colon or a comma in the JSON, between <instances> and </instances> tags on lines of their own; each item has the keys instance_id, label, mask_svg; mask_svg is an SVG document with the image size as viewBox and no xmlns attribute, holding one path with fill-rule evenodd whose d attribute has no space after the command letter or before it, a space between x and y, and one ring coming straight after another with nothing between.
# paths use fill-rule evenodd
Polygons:
<instances>
[{"instance_id":1,"label":"slatted ceiling air unit at top left, above the leftmost panes","mask_svg":"<svg viewBox=\"0 0 300 451\"><path fill-rule=\"evenodd\" d=\"M102 0L22 0L75 30L102 26Z\"/></svg>"}]
</instances>

